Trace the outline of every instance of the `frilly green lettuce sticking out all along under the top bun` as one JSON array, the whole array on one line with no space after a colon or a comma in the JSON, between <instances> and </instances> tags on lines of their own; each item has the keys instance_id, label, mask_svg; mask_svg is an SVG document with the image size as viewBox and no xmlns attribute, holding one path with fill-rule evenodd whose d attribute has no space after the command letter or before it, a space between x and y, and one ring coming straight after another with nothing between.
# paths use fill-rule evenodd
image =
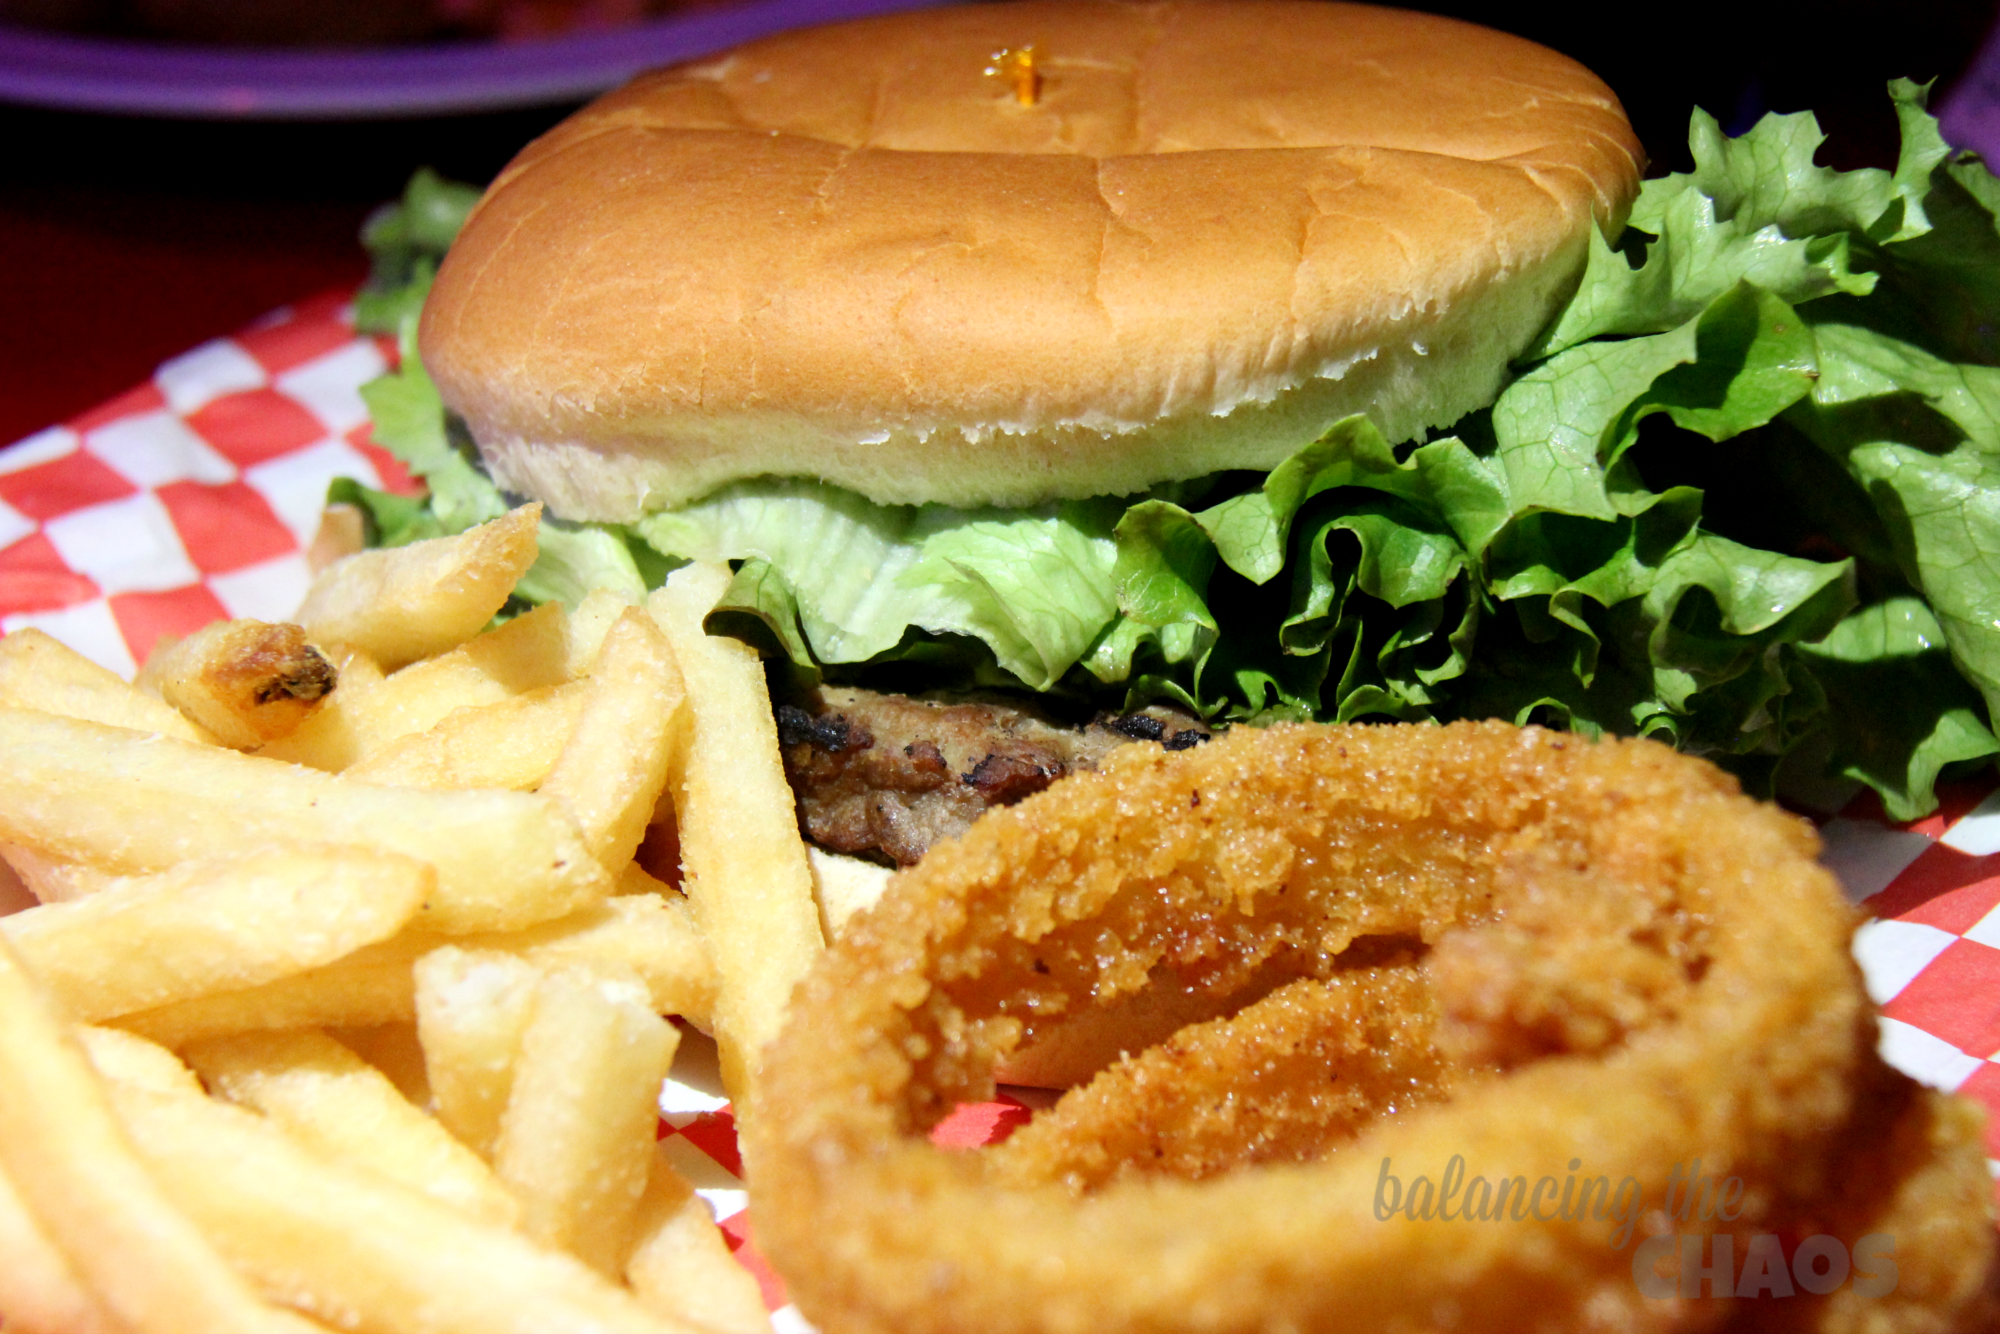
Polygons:
<instances>
[{"instance_id":1,"label":"frilly green lettuce sticking out all along under the top bun","mask_svg":"<svg viewBox=\"0 0 2000 1334\"><path fill-rule=\"evenodd\" d=\"M730 560L710 630L806 674L1540 720L1656 736L1756 790L1810 756L1920 814L2000 754L2000 182L1924 96L1890 84L1894 170L1818 166L1806 114L1728 138L1696 112L1694 170L1592 238L1450 432L1350 418L1268 474L1036 510L748 480L632 528L548 524L520 596ZM412 184L412 238L424 208L444 218ZM414 348L368 400L432 488L424 512L370 506L384 542L506 504Z\"/></svg>"}]
</instances>

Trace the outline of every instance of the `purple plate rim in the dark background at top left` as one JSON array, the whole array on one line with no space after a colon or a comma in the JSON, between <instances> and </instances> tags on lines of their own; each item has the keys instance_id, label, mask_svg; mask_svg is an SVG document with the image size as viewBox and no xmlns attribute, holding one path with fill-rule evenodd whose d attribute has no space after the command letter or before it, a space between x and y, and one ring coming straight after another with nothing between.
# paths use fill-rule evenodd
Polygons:
<instances>
[{"instance_id":1,"label":"purple plate rim in the dark background at top left","mask_svg":"<svg viewBox=\"0 0 2000 1334\"><path fill-rule=\"evenodd\" d=\"M174 46L0 24L0 102L206 120L446 116L580 102L640 70L784 28L942 0L748 0L538 42L340 50Z\"/></svg>"}]
</instances>

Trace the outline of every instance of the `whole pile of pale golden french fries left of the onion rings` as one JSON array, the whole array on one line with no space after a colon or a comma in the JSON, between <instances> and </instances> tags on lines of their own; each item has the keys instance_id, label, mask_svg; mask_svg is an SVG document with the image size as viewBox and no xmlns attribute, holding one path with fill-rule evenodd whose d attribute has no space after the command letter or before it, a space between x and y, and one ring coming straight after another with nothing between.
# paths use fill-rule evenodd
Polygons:
<instances>
[{"instance_id":1,"label":"whole pile of pale golden french fries left of the onion rings","mask_svg":"<svg viewBox=\"0 0 2000 1334\"><path fill-rule=\"evenodd\" d=\"M744 1108L820 950L762 674L712 568L490 628L534 526L0 640L0 1328L768 1330L654 1142L662 1016Z\"/></svg>"}]
</instances>

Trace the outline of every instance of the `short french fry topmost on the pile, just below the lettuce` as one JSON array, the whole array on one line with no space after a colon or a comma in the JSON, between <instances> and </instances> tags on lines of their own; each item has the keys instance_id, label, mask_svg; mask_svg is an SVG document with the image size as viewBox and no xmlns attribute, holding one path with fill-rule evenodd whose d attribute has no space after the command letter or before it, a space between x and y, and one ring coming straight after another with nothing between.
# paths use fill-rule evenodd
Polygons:
<instances>
[{"instance_id":1,"label":"short french fry topmost on the pile, just below the lettuce","mask_svg":"<svg viewBox=\"0 0 2000 1334\"><path fill-rule=\"evenodd\" d=\"M452 538L358 552L306 592L298 624L314 640L356 644L388 670L440 654L494 618L536 554L540 504Z\"/></svg>"}]
</instances>

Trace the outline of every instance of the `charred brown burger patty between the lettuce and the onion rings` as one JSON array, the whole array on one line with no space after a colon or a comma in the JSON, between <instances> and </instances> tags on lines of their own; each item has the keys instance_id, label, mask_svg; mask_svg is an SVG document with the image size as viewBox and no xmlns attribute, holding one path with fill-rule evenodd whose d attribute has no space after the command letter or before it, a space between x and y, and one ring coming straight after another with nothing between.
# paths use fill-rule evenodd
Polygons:
<instances>
[{"instance_id":1,"label":"charred brown burger patty between the lettuce and the onion rings","mask_svg":"<svg viewBox=\"0 0 2000 1334\"><path fill-rule=\"evenodd\" d=\"M1186 750L1208 740L1208 728L1168 708L1074 728L1014 702L914 700L850 686L778 706L778 744L806 838L898 866L956 838L990 806L1096 768L1134 740Z\"/></svg>"}]
</instances>

